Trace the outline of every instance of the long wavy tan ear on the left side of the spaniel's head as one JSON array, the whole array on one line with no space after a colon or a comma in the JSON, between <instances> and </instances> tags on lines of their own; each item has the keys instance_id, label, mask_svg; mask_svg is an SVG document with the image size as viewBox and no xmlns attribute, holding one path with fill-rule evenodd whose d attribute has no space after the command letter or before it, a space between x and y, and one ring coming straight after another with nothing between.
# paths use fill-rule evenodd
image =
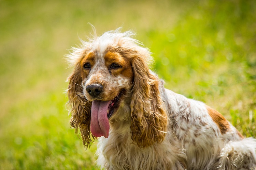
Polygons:
<instances>
[{"instance_id":1,"label":"long wavy tan ear on the left side of the spaniel's head","mask_svg":"<svg viewBox=\"0 0 256 170\"><path fill-rule=\"evenodd\" d=\"M68 81L68 104L71 106L70 125L75 128L75 132L77 134L77 129L80 129L83 144L86 147L90 147L91 142L93 141L91 137L95 140L93 135L90 136L91 102L89 102L83 95L79 64L75 66L75 69L69 76Z\"/></svg>"}]
</instances>

